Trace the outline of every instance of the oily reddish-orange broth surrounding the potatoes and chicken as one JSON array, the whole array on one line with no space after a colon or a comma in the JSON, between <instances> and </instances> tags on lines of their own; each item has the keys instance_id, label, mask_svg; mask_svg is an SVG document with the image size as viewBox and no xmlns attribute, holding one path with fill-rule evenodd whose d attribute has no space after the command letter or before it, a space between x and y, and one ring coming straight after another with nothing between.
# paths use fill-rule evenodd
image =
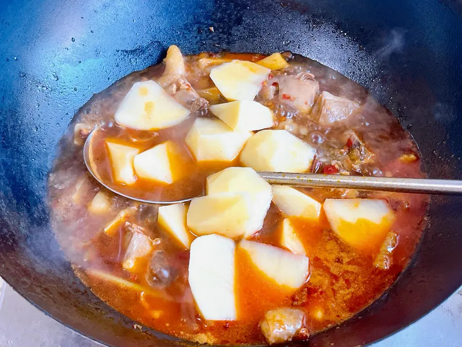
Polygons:
<instances>
[{"instance_id":1,"label":"oily reddish-orange broth surrounding the potatoes and chicken","mask_svg":"<svg viewBox=\"0 0 462 347\"><path fill-rule=\"evenodd\" d=\"M207 55L202 54L186 58L188 80L196 89L213 85L208 76L203 76L198 64L198 59L205 56ZM229 53L224 53L224 57L229 57ZM256 61L262 56L239 54L232 58ZM360 118L346 125L358 134L376 155L378 164L364 174L425 177L421 171L420 160L412 163L398 160L403 153L412 152L418 155L417 146L410 135L401 128L397 119L369 97L362 87L332 69L306 58L297 57L291 62L290 69L292 74L311 72L319 81L321 90L328 90L332 94L360 102L364 107L365 111L361 113ZM352 197L352 194L386 199L397 217L393 230L398 233L398 244L392 253L391 267L386 271L379 270L373 266L374 255L358 253L342 243L330 230L323 212L320 223L316 225L303 220L293 220L297 235L310 258L310 280L295 295L286 293L271 280L256 276L255 271L251 271L252 264L246 259L246 255L238 252L236 275L237 278L245 279L236 283L237 301L242 314L234 322L204 321L197 312L187 285L188 251L181 249L157 226L158 206L134 203L107 192L111 198L112 211L104 215L89 213L88 203L102 188L86 172L82 146L73 144L73 127L79 122L91 124L92 127L97 126L103 130L105 137L110 136L121 143L135 138L135 145L142 150L166 139L174 140L181 148L184 161L188 163L184 173L187 179L179 180L170 187L140 180L133 189L138 194L146 194L145 198L162 196L163 199L177 199L189 194L201 194L207 175L228 166L240 166L238 160L233 163L199 165L185 147L184 136L192 121L199 116L213 117L211 114L191 113L190 118L184 123L155 133L127 132L114 123L115 110L131 85L139 81L156 80L162 71L163 64L159 64L134 72L91 98L75 115L68 132L63 136L59 154L50 174L49 202L56 238L73 263L76 275L95 295L133 320L170 335L209 343L263 343L264 337L260 332L259 322L268 309L281 306L301 308L306 313L307 326L313 334L350 318L378 298L394 282L408 264L419 241L425 226L429 197L406 193L304 189L302 191L321 203L325 198ZM256 101L260 101L259 97ZM296 115L284 117L290 116L290 109L275 104L266 105L277 115L278 129L292 132L318 150L329 151L343 145L339 138L344 129L332 127L326 131L310 119ZM110 167L104 156L101 138L95 149L100 172L104 177L110 178ZM77 196L76 186L80 187ZM129 192L128 187L115 188ZM102 232L104 226L118 211L129 206L137 206L137 212L131 217L130 222L142 225L151 239L159 239L159 248L168 254L170 262L175 264L171 268L175 281L165 290L146 290L140 293L101 280L89 271L97 269L137 283L143 288L149 288L146 280L148 264L140 266L133 273L124 271L120 265L124 255L122 228L112 237ZM283 215L272 204L262 230L252 239L278 245L282 220Z\"/></svg>"}]
</instances>

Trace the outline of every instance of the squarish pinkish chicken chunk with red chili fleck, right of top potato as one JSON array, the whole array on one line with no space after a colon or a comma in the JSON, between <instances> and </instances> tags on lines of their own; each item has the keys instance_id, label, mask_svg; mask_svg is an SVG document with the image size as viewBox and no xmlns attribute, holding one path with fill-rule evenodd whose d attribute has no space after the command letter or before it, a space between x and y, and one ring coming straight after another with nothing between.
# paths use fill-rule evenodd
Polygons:
<instances>
[{"instance_id":1,"label":"squarish pinkish chicken chunk with red chili fleck, right of top potato","mask_svg":"<svg viewBox=\"0 0 462 347\"><path fill-rule=\"evenodd\" d=\"M275 80L279 84L280 103L301 113L311 111L319 90L319 83L313 74L300 72L295 76L281 75Z\"/></svg>"}]
</instances>

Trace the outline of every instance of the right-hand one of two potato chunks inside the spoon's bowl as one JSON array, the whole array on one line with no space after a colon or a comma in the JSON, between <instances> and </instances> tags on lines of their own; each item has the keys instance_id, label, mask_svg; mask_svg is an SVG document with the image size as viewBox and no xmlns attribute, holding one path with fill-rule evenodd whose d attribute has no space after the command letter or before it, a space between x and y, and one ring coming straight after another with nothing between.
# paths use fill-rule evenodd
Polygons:
<instances>
[{"instance_id":1,"label":"right-hand one of two potato chunks inside the spoon's bowl","mask_svg":"<svg viewBox=\"0 0 462 347\"><path fill-rule=\"evenodd\" d=\"M174 147L174 143L165 141L134 157L133 166L137 176L172 184L175 178L172 171Z\"/></svg>"}]
</instances>

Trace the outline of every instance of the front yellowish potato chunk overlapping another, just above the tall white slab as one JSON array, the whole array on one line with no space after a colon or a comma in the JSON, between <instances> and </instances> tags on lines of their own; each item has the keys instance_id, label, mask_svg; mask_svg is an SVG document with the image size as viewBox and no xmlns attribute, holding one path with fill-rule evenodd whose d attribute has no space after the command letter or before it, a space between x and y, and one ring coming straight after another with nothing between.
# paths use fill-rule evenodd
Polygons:
<instances>
[{"instance_id":1,"label":"front yellowish potato chunk overlapping another, just above the tall white slab","mask_svg":"<svg viewBox=\"0 0 462 347\"><path fill-rule=\"evenodd\" d=\"M220 193L196 197L189 204L186 224L196 235L237 238L255 227L249 194Z\"/></svg>"}]
</instances>

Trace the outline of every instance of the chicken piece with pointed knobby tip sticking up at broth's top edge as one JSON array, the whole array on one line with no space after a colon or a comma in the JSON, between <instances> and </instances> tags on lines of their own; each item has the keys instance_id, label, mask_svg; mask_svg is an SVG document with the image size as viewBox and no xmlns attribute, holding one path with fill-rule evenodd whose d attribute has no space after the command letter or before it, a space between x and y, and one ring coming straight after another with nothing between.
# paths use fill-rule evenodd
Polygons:
<instances>
[{"instance_id":1,"label":"chicken piece with pointed knobby tip sticking up at broth's top edge","mask_svg":"<svg viewBox=\"0 0 462 347\"><path fill-rule=\"evenodd\" d=\"M175 45L168 47L164 63L164 73L157 80L157 83L180 104L188 107L191 111L198 112L206 109L208 101L201 98L186 79L186 66L180 48Z\"/></svg>"}]
</instances>

